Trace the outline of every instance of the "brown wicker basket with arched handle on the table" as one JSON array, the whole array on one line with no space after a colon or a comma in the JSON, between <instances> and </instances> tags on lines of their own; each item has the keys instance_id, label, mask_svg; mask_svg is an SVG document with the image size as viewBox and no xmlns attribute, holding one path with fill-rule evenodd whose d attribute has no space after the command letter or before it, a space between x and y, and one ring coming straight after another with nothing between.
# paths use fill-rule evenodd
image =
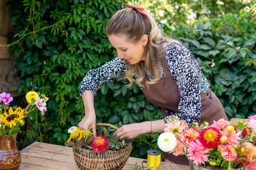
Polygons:
<instances>
[{"instance_id":1,"label":"brown wicker basket with arched handle on the table","mask_svg":"<svg viewBox=\"0 0 256 170\"><path fill-rule=\"evenodd\" d=\"M96 127L106 126L115 128L118 127L107 123L98 123ZM73 146L74 158L79 169L122 169L127 162L132 151L132 145L121 150L106 150L96 152L81 148L79 145Z\"/></svg>"}]
</instances>

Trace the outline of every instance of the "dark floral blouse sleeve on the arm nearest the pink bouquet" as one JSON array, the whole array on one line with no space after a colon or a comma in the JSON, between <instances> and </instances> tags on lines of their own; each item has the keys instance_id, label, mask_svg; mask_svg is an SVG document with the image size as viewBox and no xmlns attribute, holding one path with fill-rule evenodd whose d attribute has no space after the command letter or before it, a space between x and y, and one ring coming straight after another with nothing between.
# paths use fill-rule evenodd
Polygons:
<instances>
[{"instance_id":1,"label":"dark floral blouse sleeve on the arm nearest the pink bouquet","mask_svg":"<svg viewBox=\"0 0 256 170\"><path fill-rule=\"evenodd\" d=\"M200 68L191 52L179 43L169 43L166 46L166 59L170 66L173 80L180 93L179 111L166 116L164 121L175 116L189 125L199 122L201 118L200 100Z\"/></svg>"}]
</instances>

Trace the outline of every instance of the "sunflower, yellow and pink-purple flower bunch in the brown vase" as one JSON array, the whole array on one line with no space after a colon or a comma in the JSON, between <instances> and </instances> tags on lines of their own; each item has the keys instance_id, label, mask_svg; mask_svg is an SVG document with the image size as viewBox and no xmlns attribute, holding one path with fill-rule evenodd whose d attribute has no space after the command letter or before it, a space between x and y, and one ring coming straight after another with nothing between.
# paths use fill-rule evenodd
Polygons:
<instances>
[{"instance_id":1,"label":"sunflower, yellow and pink-purple flower bunch in the brown vase","mask_svg":"<svg viewBox=\"0 0 256 170\"><path fill-rule=\"evenodd\" d=\"M28 105L26 109L22 109L10 106L10 102L13 101L10 93L0 93L0 135L12 135L15 139L15 134L20 132L20 126L24 125L24 119L29 112L34 111L36 107L39 111L44 111L48 99L44 94L29 91L26 94Z\"/></svg>"}]
</instances>

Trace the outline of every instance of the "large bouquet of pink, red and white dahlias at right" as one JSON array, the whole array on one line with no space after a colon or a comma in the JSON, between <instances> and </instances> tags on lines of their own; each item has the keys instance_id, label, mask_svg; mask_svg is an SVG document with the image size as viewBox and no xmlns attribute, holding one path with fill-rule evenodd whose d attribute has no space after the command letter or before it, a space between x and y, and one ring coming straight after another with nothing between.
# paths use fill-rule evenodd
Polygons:
<instances>
[{"instance_id":1,"label":"large bouquet of pink, red and white dahlias at right","mask_svg":"<svg viewBox=\"0 0 256 170\"><path fill-rule=\"evenodd\" d=\"M192 127L175 117L166 123L157 144L175 156L186 155L197 166L256 169L256 115L236 125L221 119Z\"/></svg>"}]
</instances>

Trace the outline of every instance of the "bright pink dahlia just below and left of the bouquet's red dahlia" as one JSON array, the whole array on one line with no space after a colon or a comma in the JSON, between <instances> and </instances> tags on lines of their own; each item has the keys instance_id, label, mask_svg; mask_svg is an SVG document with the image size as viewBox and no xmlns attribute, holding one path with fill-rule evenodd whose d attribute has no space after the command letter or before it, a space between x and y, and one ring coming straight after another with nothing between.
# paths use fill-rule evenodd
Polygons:
<instances>
[{"instance_id":1,"label":"bright pink dahlia just below and left of the bouquet's red dahlia","mask_svg":"<svg viewBox=\"0 0 256 170\"><path fill-rule=\"evenodd\" d=\"M209 161L207 158L209 151L209 149L204 148L200 141L196 140L195 142L191 142L188 146L188 157L190 160L193 160L196 165L204 164L204 162Z\"/></svg>"}]
</instances>

